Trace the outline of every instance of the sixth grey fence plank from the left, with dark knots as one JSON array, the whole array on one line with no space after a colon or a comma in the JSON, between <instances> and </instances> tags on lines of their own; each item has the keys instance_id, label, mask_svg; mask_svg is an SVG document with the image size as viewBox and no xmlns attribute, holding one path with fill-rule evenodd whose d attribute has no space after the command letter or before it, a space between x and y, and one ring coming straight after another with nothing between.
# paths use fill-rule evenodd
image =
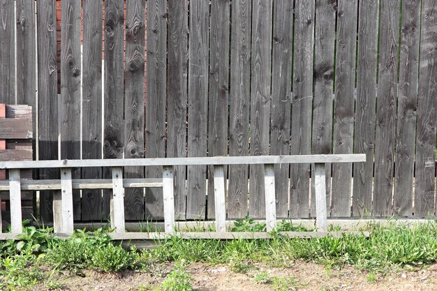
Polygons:
<instances>
[{"instance_id":1,"label":"sixth grey fence plank from the left, with dark knots","mask_svg":"<svg viewBox=\"0 0 437 291\"><path fill-rule=\"evenodd\" d=\"M103 158L122 158L124 147L124 1L105 1L105 92ZM109 167L103 178L112 177ZM108 191L103 191L103 197ZM103 216L108 215L108 202L103 200Z\"/></svg>"}]
</instances>

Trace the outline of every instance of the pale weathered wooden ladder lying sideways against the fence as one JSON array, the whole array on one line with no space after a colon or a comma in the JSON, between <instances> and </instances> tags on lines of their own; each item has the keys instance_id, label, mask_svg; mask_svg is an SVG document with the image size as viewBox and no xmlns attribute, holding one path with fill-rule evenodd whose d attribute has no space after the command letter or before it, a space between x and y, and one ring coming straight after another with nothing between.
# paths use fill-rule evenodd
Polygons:
<instances>
[{"instance_id":1,"label":"pale weathered wooden ladder lying sideways against the fence","mask_svg":"<svg viewBox=\"0 0 437 291\"><path fill-rule=\"evenodd\" d=\"M316 225L317 232L279 232L287 237L320 237L327 234L327 208L325 190L325 163L360 163L366 161L364 154L300 155L300 156L218 156L199 158L128 158L106 160L64 160L64 161L10 161L0 162L0 169L9 170L9 181L0 181L0 191L10 191L16 197L10 203L11 233L0 234L0 239L10 239L22 232L20 196L22 190L60 190L59 203L54 204L54 232L69 235L73 232L73 189L112 188L111 226L112 239L163 239L178 234L184 238L233 239L268 238L269 232L276 230L276 203L274 165L281 163L313 163L316 167ZM163 166L162 179L124 179L123 167ZM173 167L177 165L214 166L214 195L216 207L215 232L175 232L175 204L173 196ZM236 233L226 231L225 165L264 165L265 169L265 209L267 232ZM111 167L112 179L71 179L73 167ZM59 168L61 179L22 180L20 171L24 169ZM163 187L165 232L126 232L124 221L124 188ZM341 234L340 234L341 235Z\"/></svg>"}]
</instances>

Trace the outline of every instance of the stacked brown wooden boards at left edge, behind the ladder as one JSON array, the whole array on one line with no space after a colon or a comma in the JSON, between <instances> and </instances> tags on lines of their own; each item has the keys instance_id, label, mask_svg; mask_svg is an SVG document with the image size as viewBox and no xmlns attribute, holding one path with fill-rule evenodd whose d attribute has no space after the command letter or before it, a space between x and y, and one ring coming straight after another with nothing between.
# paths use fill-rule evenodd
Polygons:
<instances>
[{"instance_id":1,"label":"stacked brown wooden boards at left edge, behind the ladder","mask_svg":"<svg viewBox=\"0 0 437 291\"><path fill-rule=\"evenodd\" d=\"M0 161L32 161L32 107L0 104ZM6 179L6 170L0 170L0 179ZM23 179L32 179L32 170L22 171ZM1 218L10 221L9 193L1 192ZM34 214L34 194L22 193L22 218ZM4 224L3 224L4 225Z\"/></svg>"}]
</instances>

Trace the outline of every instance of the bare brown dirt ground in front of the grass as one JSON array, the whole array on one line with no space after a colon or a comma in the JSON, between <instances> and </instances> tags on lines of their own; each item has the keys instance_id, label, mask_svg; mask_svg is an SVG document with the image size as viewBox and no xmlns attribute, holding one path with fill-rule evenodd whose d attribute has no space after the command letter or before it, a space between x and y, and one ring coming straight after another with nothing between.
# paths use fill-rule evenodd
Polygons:
<instances>
[{"instance_id":1,"label":"bare brown dirt ground in front of the grass","mask_svg":"<svg viewBox=\"0 0 437 291\"><path fill-rule=\"evenodd\" d=\"M171 271L166 265L153 272L127 271L122 274L102 274L83 271L80 276L59 274L54 281L61 290L153 290ZM191 264L186 268L193 276L195 290L212 291L267 291L267 290L437 290L437 264L413 271L396 271L387 275L362 272L353 267L341 270L314 264L296 262L291 267L272 268L265 264L252 264L246 273L231 271L229 266ZM260 283L257 274L267 274L269 281ZM259 275L258 275L259 276ZM41 285L34 290L47 290Z\"/></svg>"}]
</instances>

